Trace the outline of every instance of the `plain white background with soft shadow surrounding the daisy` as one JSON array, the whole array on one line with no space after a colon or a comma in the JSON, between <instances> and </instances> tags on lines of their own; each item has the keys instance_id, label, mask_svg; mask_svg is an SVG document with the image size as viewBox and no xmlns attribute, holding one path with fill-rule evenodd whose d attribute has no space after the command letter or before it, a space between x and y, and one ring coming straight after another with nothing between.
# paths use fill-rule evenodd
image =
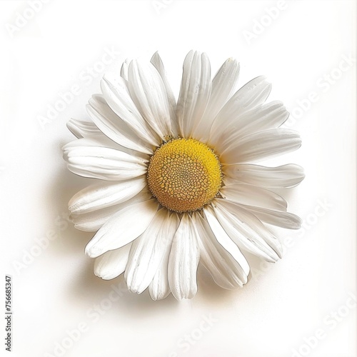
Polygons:
<instances>
[{"instance_id":1,"label":"plain white background with soft shadow surrounding the daisy","mask_svg":"<svg viewBox=\"0 0 357 357\"><path fill-rule=\"evenodd\" d=\"M356 356L355 1L51 0L29 9L0 2L1 279L12 277L14 311L13 351L1 338L1 356ZM106 49L115 59L104 66ZM92 234L63 218L91 180L67 171L61 146L74 139L66 121L87 118L104 71L159 50L178 94L190 49L206 51L213 74L238 59L240 86L268 76L271 99L293 113L286 126L303 146L276 164L306 169L286 193L304 226L276 230L288 243L278 263L249 257L244 288L223 291L200 269L192 301L155 302L125 293L121 277L94 276L84 256ZM71 103L41 126L73 86Z\"/></svg>"}]
</instances>

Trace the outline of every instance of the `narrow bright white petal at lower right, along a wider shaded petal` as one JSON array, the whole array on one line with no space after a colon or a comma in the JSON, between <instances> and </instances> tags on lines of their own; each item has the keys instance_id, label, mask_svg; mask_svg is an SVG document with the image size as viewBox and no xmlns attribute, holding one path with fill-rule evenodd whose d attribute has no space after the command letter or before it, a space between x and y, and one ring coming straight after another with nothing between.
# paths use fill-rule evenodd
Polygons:
<instances>
[{"instance_id":1,"label":"narrow bright white petal at lower right, along a wider shaded petal","mask_svg":"<svg viewBox=\"0 0 357 357\"><path fill-rule=\"evenodd\" d=\"M238 246L233 243L231 238L221 226L221 223L218 222L216 213L213 211L213 208L211 206L206 206L203 208L203 212L218 243L220 243L221 246L226 249L226 251L231 253L231 256L233 256L233 258L238 262L238 265L241 267L241 269L237 271L241 282L243 284L247 283L249 271L251 268L249 267L248 261L246 261L246 257L243 256Z\"/></svg>"}]
</instances>

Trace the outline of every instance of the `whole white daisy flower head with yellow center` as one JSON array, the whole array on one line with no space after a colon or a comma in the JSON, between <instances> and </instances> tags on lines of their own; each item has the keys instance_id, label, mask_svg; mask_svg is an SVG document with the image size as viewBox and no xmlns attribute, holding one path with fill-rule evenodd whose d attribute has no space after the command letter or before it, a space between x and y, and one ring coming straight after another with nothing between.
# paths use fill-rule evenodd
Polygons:
<instances>
[{"instance_id":1,"label":"whole white daisy flower head with yellow center","mask_svg":"<svg viewBox=\"0 0 357 357\"><path fill-rule=\"evenodd\" d=\"M104 76L86 106L91 121L71 119L78 138L64 146L74 174L99 181L69 201L76 228L96 232L86 254L103 279L124 273L129 291L154 300L197 292L201 262L222 288L248 281L242 251L275 262L281 243L266 227L299 228L273 190L303 179L294 164L253 162L301 146L271 84L259 76L238 91L239 64L228 59L211 79L206 54L183 63L178 100L159 54L125 61Z\"/></svg>"}]
</instances>

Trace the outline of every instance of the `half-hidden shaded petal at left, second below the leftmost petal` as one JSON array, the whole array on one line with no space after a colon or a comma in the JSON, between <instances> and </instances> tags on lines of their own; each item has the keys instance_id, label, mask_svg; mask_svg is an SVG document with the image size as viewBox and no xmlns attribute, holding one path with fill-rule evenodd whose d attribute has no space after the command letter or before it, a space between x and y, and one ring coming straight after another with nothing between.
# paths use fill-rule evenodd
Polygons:
<instances>
[{"instance_id":1,"label":"half-hidden shaded petal at left, second below the leftmost petal","mask_svg":"<svg viewBox=\"0 0 357 357\"><path fill-rule=\"evenodd\" d=\"M104 225L104 223L106 223L106 221L109 220L109 218L114 216L115 213L121 211L121 209L134 203L148 201L151 197L152 195L149 190L143 190L133 198L130 198L128 201L123 203L82 214L72 213L70 218L74 223L74 227L80 231L96 232L99 228L101 228L101 226Z\"/></svg>"}]
</instances>

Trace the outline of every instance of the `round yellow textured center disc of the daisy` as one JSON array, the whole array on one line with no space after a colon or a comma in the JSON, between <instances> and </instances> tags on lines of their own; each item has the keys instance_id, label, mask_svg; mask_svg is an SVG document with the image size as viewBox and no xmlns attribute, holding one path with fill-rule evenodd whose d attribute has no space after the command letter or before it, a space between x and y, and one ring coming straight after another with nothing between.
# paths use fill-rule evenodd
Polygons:
<instances>
[{"instance_id":1,"label":"round yellow textured center disc of the daisy","mask_svg":"<svg viewBox=\"0 0 357 357\"><path fill-rule=\"evenodd\" d=\"M162 206L176 212L196 211L221 188L221 164L205 144L174 139L151 156L148 183Z\"/></svg>"}]
</instances>

